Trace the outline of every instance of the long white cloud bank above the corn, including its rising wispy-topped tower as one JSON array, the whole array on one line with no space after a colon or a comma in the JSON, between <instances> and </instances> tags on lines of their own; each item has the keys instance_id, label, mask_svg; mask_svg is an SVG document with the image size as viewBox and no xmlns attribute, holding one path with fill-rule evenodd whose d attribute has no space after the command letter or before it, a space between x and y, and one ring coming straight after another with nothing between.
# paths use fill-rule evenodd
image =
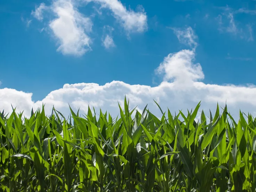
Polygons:
<instances>
[{"instance_id":1,"label":"long white cloud bank above the corn, including its rising wispy-topped tower","mask_svg":"<svg viewBox=\"0 0 256 192\"><path fill-rule=\"evenodd\" d=\"M105 2L105 1L104 1ZM108 111L112 117L119 113L118 102L123 106L126 95L129 98L130 107L137 106L142 111L148 104L148 108L158 117L161 112L153 99L159 103L165 111L167 107L171 112L194 108L199 101L201 110L206 114L209 109L214 113L217 102L224 107L227 103L228 110L238 118L239 109L252 115L256 114L256 87L254 85L212 85L201 82L204 78L202 67L195 63L197 35L191 27L185 29L173 29L181 43L190 46L176 53L170 53L163 58L162 63L155 69L155 73L162 75L163 81L155 87L145 85L129 85L122 81L112 81L105 85L96 83L65 84L63 88L51 91L42 101L33 101L32 93L24 93L15 89L0 89L0 110L11 112L11 104L17 107L17 111L23 111L30 116L32 107L37 109L45 104L47 114L51 113L53 105L66 117L70 114L69 104L74 110L80 108L81 113L87 112L88 105L94 106L96 113L99 108Z\"/></svg>"}]
</instances>

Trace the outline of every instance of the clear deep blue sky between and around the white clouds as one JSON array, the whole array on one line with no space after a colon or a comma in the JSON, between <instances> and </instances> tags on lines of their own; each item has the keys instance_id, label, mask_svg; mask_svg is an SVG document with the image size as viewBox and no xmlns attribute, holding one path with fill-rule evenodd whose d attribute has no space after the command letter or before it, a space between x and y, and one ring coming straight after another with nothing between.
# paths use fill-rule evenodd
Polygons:
<instances>
[{"instance_id":1,"label":"clear deep blue sky between and around the white clouds","mask_svg":"<svg viewBox=\"0 0 256 192\"><path fill-rule=\"evenodd\" d=\"M189 48L179 43L168 27L186 26L191 26L198 36L195 62L202 66L205 74L203 82L256 84L255 41L241 38L239 34L219 31L216 19L223 13L220 7L228 5L234 10L254 10L256 1L122 0L126 8L130 6L136 10L137 5L144 7L148 30L131 34L127 39L125 31L111 15L96 16L92 18L92 50L80 57L57 52L55 39L47 32L40 33L47 23L34 19L31 11L41 2L50 4L50 0L0 1L0 88L31 92L32 98L39 100L50 91L62 88L65 83L94 82L104 85L119 80L156 86L161 79L156 78L154 70L163 58L169 53ZM79 8L86 16L90 15L90 9L90 5ZM248 24L255 31L255 18L256 15L252 14L234 15L238 30L245 33ZM29 27L27 19L32 19ZM228 25L229 22L223 16L223 23ZM113 39L116 47L110 50L106 50L101 43L102 28L106 24L115 29Z\"/></svg>"}]
</instances>

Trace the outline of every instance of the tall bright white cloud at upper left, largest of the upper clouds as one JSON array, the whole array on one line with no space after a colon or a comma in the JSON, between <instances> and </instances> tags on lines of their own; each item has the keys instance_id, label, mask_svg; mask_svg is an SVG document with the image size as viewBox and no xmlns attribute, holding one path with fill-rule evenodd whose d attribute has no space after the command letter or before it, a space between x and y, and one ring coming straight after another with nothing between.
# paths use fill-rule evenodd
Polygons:
<instances>
[{"instance_id":1,"label":"tall bright white cloud at upper left, largest of the upper clouds","mask_svg":"<svg viewBox=\"0 0 256 192\"><path fill-rule=\"evenodd\" d=\"M90 18L83 16L70 0L58 0L51 9L56 17L50 21L50 29L57 38L58 51L63 54L83 55L90 50L90 32L93 26Z\"/></svg>"}]
</instances>

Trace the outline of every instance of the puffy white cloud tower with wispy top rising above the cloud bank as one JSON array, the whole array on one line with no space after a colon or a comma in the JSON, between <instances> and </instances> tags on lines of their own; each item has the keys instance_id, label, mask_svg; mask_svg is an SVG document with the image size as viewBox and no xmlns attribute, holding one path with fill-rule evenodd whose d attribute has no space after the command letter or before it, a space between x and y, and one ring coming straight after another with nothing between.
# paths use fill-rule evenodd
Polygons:
<instances>
[{"instance_id":1,"label":"puffy white cloud tower with wispy top rising above the cloud bank","mask_svg":"<svg viewBox=\"0 0 256 192\"><path fill-rule=\"evenodd\" d=\"M195 48L198 37L194 34L192 27L185 29L171 28L174 30L179 42L189 45L192 50L181 50L178 53L171 53L163 59L156 72L163 74L165 81L175 81L176 85L190 86L191 83L204 78L202 67L199 63L194 64Z\"/></svg>"}]
</instances>

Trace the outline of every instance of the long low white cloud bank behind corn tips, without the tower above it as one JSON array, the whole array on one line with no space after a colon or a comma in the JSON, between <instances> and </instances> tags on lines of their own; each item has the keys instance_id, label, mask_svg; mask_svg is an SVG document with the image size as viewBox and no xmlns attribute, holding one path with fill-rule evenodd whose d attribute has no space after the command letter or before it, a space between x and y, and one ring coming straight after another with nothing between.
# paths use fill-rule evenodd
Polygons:
<instances>
[{"instance_id":1,"label":"long low white cloud bank behind corn tips, without the tower above it","mask_svg":"<svg viewBox=\"0 0 256 192\"><path fill-rule=\"evenodd\" d=\"M89 104L90 107L95 107L97 113L101 107L103 111L107 110L112 117L116 117L119 113L117 102L122 104L125 94L130 99L130 107L138 105L139 109L143 109L146 104L149 104L150 111L158 117L161 117L161 112L153 99L164 111L169 107L172 113L178 110L186 113L186 109L194 108L200 100L202 100L201 109L204 109L206 114L209 109L214 113L217 102L223 107L227 101L228 109L231 114L236 115L235 117L239 109L246 113L248 111L253 113L256 107L255 86L222 86L203 82L192 82L185 88L179 85L178 81L164 81L157 87L129 85L121 81L112 81L102 86L94 83L65 84L63 88L51 91L42 101L37 102L32 101L31 93L5 88L0 89L0 109L10 112L10 104L13 104L17 106L17 111L24 110L24 114L29 116L32 106L37 109L44 103L47 114L51 113L51 107L54 105L67 117L70 113L68 103L76 111L81 107L81 113L87 112Z\"/></svg>"}]
</instances>

